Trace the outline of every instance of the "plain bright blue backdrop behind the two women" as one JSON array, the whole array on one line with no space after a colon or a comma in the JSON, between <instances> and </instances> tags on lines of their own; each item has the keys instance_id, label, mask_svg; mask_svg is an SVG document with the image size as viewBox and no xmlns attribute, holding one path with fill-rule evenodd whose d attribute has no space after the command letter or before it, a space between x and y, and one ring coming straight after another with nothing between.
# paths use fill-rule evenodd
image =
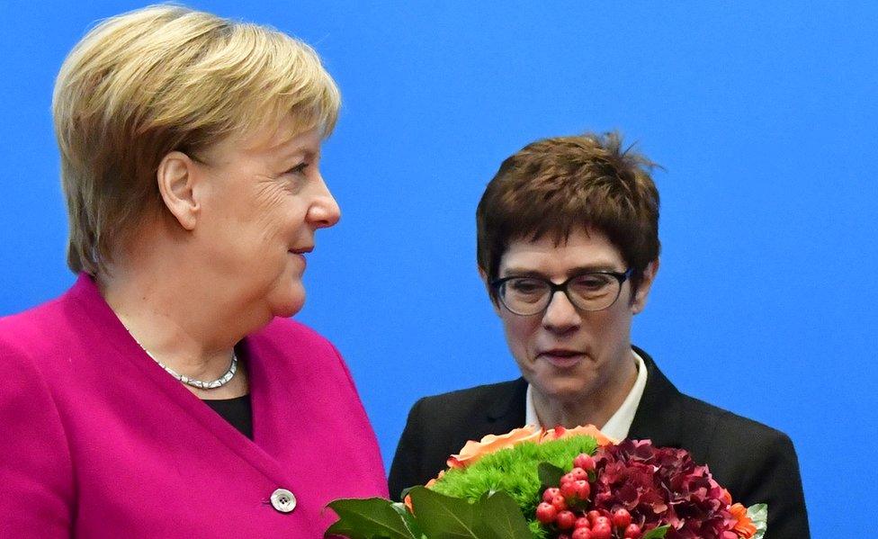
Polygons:
<instances>
[{"instance_id":1,"label":"plain bright blue backdrop behind the two women","mask_svg":"<svg viewBox=\"0 0 878 539\"><path fill-rule=\"evenodd\" d=\"M197 2L313 44L345 106L324 150L343 210L298 318L342 350L390 459L418 397L514 377L474 211L525 143L623 130L667 168L634 342L683 391L793 437L815 537L874 526L874 3ZM49 103L95 21L0 17L0 314L73 282ZM862 536L862 535L861 535Z\"/></svg>"}]
</instances>

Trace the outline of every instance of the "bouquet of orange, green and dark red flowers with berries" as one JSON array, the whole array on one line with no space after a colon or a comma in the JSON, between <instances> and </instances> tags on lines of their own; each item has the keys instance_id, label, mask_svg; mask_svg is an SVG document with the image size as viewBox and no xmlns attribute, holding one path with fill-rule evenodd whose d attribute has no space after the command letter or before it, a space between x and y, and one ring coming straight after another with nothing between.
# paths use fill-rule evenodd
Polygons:
<instances>
[{"instance_id":1,"label":"bouquet of orange, green and dark red flowers with berries","mask_svg":"<svg viewBox=\"0 0 878 539\"><path fill-rule=\"evenodd\" d=\"M337 499L350 539L761 539L767 508L732 503L707 466L596 427L516 428L470 441L405 503Z\"/></svg>"}]
</instances>

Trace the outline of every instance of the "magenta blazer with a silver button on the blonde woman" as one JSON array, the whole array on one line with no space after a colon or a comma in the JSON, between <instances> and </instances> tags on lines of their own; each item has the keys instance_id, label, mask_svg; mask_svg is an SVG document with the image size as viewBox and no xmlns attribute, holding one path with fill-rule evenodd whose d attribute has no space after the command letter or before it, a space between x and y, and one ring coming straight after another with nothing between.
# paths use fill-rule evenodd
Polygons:
<instances>
[{"instance_id":1,"label":"magenta blazer with a silver button on the blonde woman","mask_svg":"<svg viewBox=\"0 0 878 539\"><path fill-rule=\"evenodd\" d=\"M86 275L0 319L0 537L317 539L330 500L387 497L336 349L290 319L242 346L252 441L150 359Z\"/></svg>"}]
</instances>

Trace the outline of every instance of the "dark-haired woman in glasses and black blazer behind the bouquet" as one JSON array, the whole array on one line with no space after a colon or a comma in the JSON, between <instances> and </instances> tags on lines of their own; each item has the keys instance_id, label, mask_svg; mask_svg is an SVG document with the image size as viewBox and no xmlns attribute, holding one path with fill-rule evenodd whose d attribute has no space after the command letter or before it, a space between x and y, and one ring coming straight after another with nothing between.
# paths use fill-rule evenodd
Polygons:
<instances>
[{"instance_id":1,"label":"dark-haired woman in glasses and black blazer behind the bouquet","mask_svg":"<svg viewBox=\"0 0 878 539\"><path fill-rule=\"evenodd\" d=\"M733 499L768 504L771 539L808 537L789 437L677 391L632 346L658 271L651 166L614 133L540 140L500 166L476 213L477 258L522 377L418 400L392 496L435 477L468 440L591 424L685 448Z\"/></svg>"}]
</instances>

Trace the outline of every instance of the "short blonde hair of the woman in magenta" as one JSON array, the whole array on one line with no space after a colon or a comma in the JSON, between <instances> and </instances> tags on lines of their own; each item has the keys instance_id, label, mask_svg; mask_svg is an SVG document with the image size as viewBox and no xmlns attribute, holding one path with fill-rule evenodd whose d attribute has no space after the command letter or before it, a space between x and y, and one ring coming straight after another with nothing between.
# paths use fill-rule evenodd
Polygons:
<instances>
[{"instance_id":1,"label":"short blonde hair of the woman in magenta","mask_svg":"<svg viewBox=\"0 0 878 539\"><path fill-rule=\"evenodd\" d=\"M336 83L305 43L257 24L154 5L89 31L58 73L52 108L74 272L107 270L147 211L157 167L290 115L335 127ZM298 134L298 133L297 133Z\"/></svg>"}]
</instances>

